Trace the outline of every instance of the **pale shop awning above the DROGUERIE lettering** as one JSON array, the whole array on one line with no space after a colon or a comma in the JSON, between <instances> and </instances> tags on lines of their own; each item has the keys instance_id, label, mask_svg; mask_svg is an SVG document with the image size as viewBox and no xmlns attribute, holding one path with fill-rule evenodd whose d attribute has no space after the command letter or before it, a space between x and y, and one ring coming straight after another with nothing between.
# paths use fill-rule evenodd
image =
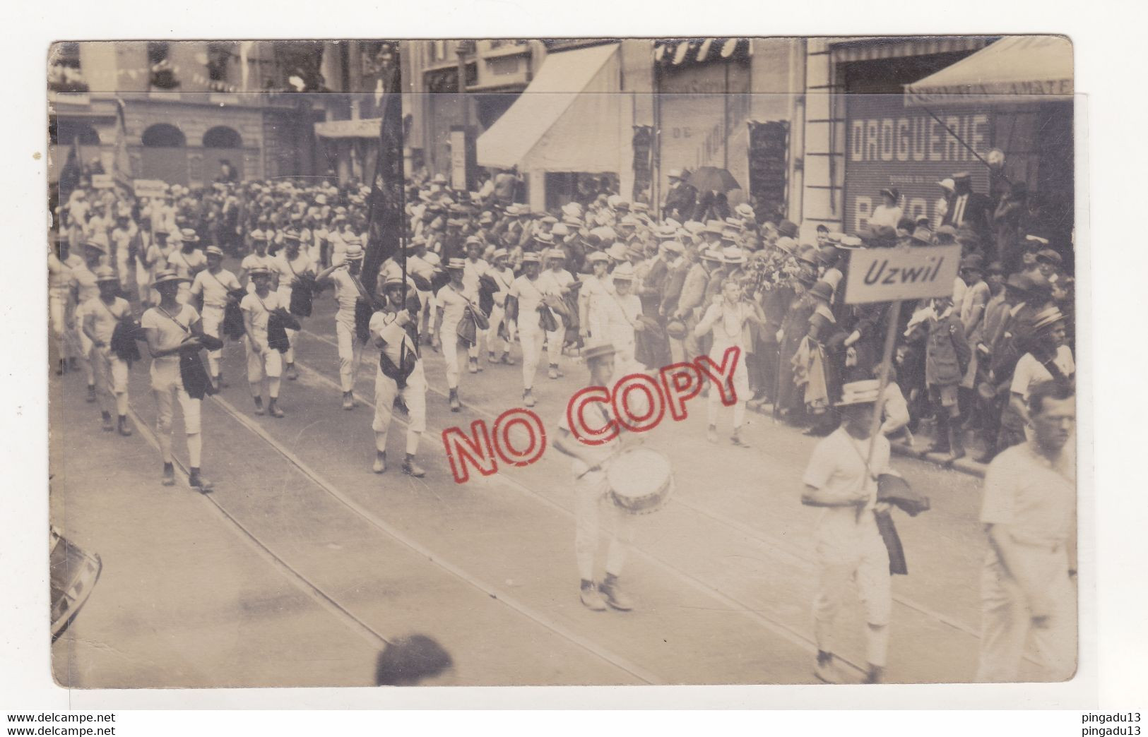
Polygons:
<instances>
[{"instance_id":1,"label":"pale shop awning above the DROGUERIE lettering","mask_svg":"<svg viewBox=\"0 0 1148 737\"><path fill-rule=\"evenodd\" d=\"M905 104L1049 102L1072 98L1072 42L1060 36L1009 36L905 85Z\"/></svg>"}]
</instances>

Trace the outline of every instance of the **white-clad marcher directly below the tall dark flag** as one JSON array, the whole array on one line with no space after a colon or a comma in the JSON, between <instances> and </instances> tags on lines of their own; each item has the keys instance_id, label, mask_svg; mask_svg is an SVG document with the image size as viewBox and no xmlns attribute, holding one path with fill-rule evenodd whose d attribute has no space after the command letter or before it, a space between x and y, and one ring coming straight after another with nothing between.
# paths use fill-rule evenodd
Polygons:
<instances>
[{"instance_id":1,"label":"white-clad marcher directly below the tall dark flag","mask_svg":"<svg viewBox=\"0 0 1148 737\"><path fill-rule=\"evenodd\" d=\"M421 479L426 471L414 463L414 456L427 427L427 379L418 349L418 312L412 316L403 305L401 278L388 278L382 285L382 294L387 300L386 308L371 316L371 338L381 354L374 374L374 420L371 424L375 449L373 471L382 473L387 470L387 432L394 416L395 397L401 397L408 413L403 473ZM410 302L418 301L410 286L408 294ZM388 362L386 373L382 370L385 359ZM405 373L408 367L410 373Z\"/></svg>"}]
</instances>

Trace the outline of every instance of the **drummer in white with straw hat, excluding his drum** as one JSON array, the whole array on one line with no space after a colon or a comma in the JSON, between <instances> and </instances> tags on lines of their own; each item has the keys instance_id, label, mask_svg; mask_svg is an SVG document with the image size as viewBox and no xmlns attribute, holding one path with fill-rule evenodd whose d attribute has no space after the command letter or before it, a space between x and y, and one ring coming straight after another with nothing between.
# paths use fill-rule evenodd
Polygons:
<instances>
[{"instance_id":1,"label":"drummer in white with straw hat, excluding his drum","mask_svg":"<svg viewBox=\"0 0 1148 737\"><path fill-rule=\"evenodd\" d=\"M582 351L587 368L590 370L590 382L587 386L611 386L614 378L614 347L610 343L592 346ZM608 405L591 402L585 405L584 420L590 427L602 427L614 418ZM572 471L576 489L574 552L577 557L579 575L582 579L582 604L595 612L603 612L611 606L621 612L634 608L634 604L618 583L618 577L626 564L631 538L631 517L616 504L607 501L610 487L606 482L605 464L621 449L621 440L613 440L599 445L587 445L571 433L569 419L563 412L558 422L559 435L554 448L559 452L574 458ZM606 552L606 577L602 584L595 582L595 553L598 549L599 510L605 502L606 514L613 518L613 535Z\"/></svg>"}]
</instances>

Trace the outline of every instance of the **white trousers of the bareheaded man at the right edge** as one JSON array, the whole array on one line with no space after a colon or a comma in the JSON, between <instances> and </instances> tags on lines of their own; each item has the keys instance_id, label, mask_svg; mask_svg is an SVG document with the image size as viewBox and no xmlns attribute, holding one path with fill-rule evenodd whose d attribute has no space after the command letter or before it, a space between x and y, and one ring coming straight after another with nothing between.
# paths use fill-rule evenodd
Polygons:
<instances>
[{"instance_id":1,"label":"white trousers of the bareheaded man at the right edge","mask_svg":"<svg viewBox=\"0 0 1148 737\"><path fill-rule=\"evenodd\" d=\"M1065 552L1034 552L1035 567L1048 572L1046 596L1053 603L1048 626L1032 626L1024 592L990 553L980 574L980 662L977 682L1010 683L1018 678L1021 658L1031 642L1049 681L1068 681L1077 665L1076 590Z\"/></svg>"}]
</instances>

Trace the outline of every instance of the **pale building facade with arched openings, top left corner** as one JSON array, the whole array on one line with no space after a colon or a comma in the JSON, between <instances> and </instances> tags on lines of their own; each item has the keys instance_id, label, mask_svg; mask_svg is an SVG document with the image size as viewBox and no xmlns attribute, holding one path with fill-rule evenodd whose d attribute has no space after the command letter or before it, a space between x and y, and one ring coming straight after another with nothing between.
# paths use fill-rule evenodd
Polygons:
<instances>
[{"instance_id":1,"label":"pale building facade with arched openings, top left corner","mask_svg":"<svg viewBox=\"0 0 1148 737\"><path fill-rule=\"evenodd\" d=\"M202 186L324 168L312 125L323 45L279 41L62 42L49 61L51 179L72 147L111 171L124 102L133 178ZM96 163L99 162L99 163Z\"/></svg>"}]
</instances>

